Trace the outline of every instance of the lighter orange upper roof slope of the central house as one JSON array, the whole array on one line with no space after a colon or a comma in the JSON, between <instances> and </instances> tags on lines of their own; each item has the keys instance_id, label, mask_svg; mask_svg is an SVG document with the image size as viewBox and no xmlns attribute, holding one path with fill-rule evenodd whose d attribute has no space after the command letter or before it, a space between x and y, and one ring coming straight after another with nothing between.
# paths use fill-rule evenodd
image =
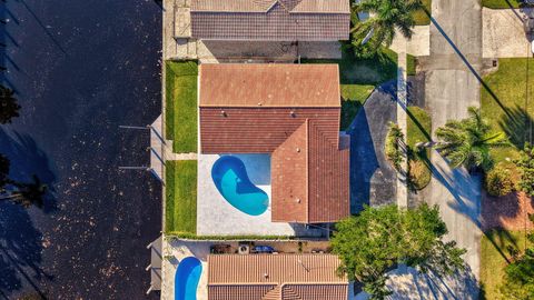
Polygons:
<instances>
[{"instance_id":1,"label":"lighter orange upper roof slope of the central house","mask_svg":"<svg viewBox=\"0 0 534 300\"><path fill-rule=\"evenodd\" d=\"M340 107L337 64L200 64L199 72L200 107Z\"/></svg>"}]
</instances>

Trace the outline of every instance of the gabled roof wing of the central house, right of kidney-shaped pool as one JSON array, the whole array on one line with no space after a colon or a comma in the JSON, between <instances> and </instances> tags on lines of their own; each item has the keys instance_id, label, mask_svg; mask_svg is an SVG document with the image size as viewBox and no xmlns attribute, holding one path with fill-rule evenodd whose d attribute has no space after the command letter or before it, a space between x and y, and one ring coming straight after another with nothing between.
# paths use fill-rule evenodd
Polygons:
<instances>
[{"instance_id":1,"label":"gabled roof wing of the central house, right of kidney-shaped pool","mask_svg":"<svg viewBox=\"0 0 534 300\"><path fill-rule=\"evenodd\" d=\"M349 150L328 140L316 119L273 152L270 171L273 221L334 222L350 213Z\"/></svg>"}]
</instances>

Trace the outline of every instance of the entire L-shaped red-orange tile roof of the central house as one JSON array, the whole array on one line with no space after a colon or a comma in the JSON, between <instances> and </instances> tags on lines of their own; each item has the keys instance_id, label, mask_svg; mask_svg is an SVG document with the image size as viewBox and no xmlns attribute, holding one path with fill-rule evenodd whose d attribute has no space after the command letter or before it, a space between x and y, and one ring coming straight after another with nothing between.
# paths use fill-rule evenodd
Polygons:
<instances>
[{"instance_id":1,"label":"entire L-shaped red-orange tile roof of the central house","mask_svg":"<svg viewBox=\"0 0 534 300\"><path fill-rule=\"evenodd\" d=\"M337 64L200 64L199 74L200 151L271 153L273 221L349 216Z\"/></svg>"}]
</instances>

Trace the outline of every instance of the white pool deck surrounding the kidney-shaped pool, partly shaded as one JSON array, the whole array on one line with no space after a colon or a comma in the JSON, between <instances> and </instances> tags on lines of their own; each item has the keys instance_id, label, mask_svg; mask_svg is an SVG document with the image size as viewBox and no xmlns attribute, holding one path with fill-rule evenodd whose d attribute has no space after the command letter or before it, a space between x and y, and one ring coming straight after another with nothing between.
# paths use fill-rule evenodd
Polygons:
<instances>
[{"instance_id":1,"label":"white pool deck surrounding the kidney-shaped pool, partly shaded","mask_svg":"<svg viewBox=\"0 0 534 300\"><path fill-rule=\"evenodd\" d=\"M198 156L197 234L198 236L306 236L318 237L323 232L306 229L303 224L270 221L270 156L233 154L247 169L250 181L269 197L269 207L260 216L246 214L228 203L211 179L211 168L221 156Z\"/></svg>"}]
</instances>

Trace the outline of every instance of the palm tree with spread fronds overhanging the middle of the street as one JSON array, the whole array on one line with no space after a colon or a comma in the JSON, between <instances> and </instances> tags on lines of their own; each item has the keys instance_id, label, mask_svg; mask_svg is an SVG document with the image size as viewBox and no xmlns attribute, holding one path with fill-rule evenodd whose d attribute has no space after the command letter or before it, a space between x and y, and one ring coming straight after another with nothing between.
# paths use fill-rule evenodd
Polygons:
<instances>
[{"instance_id":1,"label":"palm tree with spread fronds overhanging the middle of the street","mask_svg":"<svg viewBox=\"0 0 534 300\"><path fill-rule=\"evenodd\" d=\"M464 166L469 171L479 167L488 169L492 163L490 150L510 146L510 142L503 132L492 131L479 109L469 107L467 111L467 119L447 121L445 127L436 130L439 139L436 149L452 168Z\"/></svg>"}]
</instances>

